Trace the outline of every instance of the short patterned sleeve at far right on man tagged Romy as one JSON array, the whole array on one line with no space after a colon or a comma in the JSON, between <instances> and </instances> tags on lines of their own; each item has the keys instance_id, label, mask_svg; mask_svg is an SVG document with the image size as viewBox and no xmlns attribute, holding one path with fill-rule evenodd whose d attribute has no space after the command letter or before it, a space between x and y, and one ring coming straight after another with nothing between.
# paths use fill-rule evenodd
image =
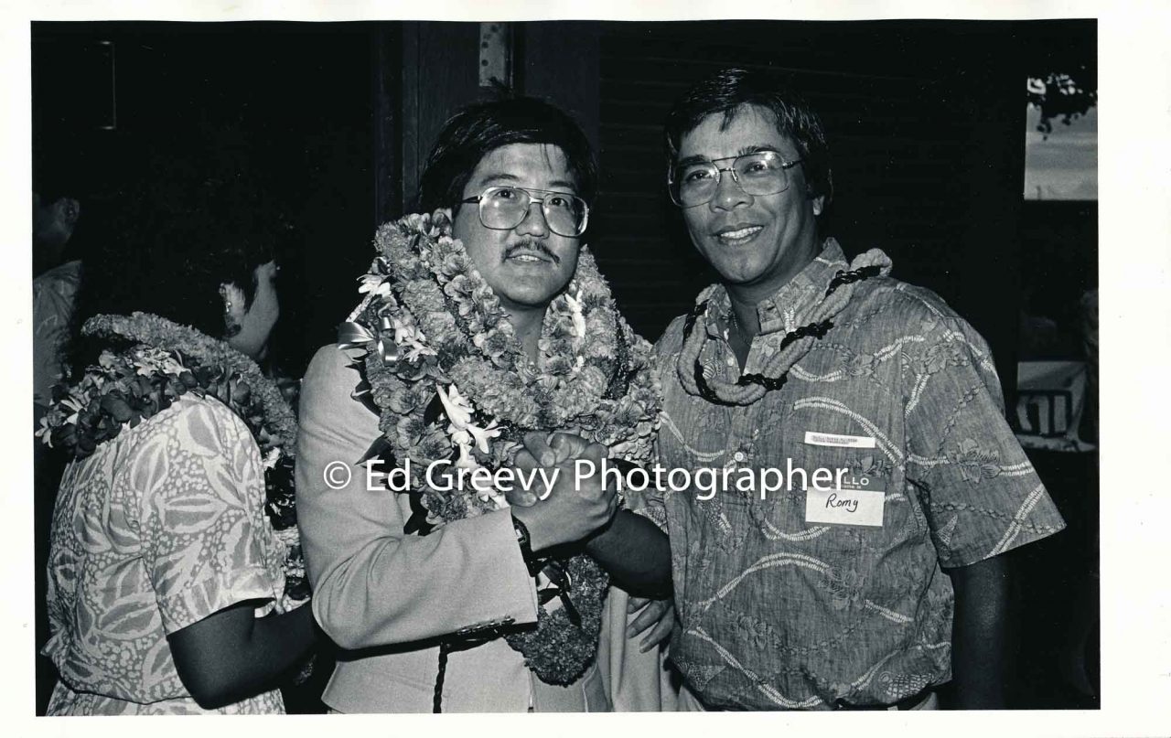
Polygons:
<instances>
[{"instance_id":1,"label":"short patterned sleeve at far right on man tagged Romy","mask_svg":"<svg viewBox=\"0 0 1171 738\"><path fill-rule=\"evenodd\" d=\"M984 339L941 316L903 361L906 479L944 567L959 567L1064 527L1004 417Z\"/></svg>"}]
</instances>

